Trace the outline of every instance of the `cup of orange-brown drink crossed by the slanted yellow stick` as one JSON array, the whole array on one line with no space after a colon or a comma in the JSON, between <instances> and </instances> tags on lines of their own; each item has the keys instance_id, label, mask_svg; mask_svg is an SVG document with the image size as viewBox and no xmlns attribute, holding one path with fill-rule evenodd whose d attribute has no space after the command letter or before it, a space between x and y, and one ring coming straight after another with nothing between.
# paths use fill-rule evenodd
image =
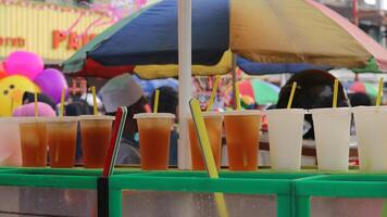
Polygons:
<instances>
[{"instance_id":1,"label":"cup of orange-brown drink crossed by the slanted yellow stick","mask_svg":"<svg viewBox=\"0 0 387 217\"><path fill-rule=\"evenodd\" d=\"M207 132L209 135L212 154L214 156L216 168L221 168L221 153L222 153L222 127L223 117L221 113L204 112L204 124ZM196 135L195 125L192 118L188 119L189 141L191 148L191 161L194 170L204 170L204 161L201 148Z\"/></svg>"}]
</instances>

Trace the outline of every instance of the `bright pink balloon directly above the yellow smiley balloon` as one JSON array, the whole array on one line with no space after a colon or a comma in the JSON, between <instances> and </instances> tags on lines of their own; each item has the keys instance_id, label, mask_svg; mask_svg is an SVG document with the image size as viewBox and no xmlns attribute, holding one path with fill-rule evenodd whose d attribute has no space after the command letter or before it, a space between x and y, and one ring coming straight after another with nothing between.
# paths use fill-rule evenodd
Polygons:
<instances>
[{"instance_id":1,"label":"bright pink balloon directly above the yellow smiley balloon","mask_svg":"<svg viewBox=\"0 0 387 217\"><path fill-rule=\"evenodd\" d=\"M7 74L24 75L29 79L34 79L43 71L43 60L39 55L27 51L15 51L4 61Z\"/></svg>"}]
</instances>

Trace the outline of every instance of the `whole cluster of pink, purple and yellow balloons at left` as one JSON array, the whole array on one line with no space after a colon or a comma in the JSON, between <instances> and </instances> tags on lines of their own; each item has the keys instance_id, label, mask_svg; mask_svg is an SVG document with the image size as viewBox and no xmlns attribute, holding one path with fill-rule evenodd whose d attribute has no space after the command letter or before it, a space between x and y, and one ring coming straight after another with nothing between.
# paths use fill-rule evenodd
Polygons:
<instances>
[{"instance_id":1,"label":"whole cluster of pink, purple and yellow balloons at left","mask_svg":"<svg viewBox=\"0 0 387 217\"><path fill-rule=\"evenodd\" d=\"M67 97L68 86L60 71L45 69L42 59L35 53L15 51L0 62L0 116L9 115L13 106L21 104L25 91L45 93L59 103L63 88Z\"/></svg>"}]
</instances>

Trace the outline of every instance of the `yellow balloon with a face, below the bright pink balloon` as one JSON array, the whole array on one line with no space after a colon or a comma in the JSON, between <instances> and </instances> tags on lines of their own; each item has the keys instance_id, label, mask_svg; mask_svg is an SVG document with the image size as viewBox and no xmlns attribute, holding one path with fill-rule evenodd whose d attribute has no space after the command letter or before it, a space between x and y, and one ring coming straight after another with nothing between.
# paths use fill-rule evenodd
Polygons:
<instances>
[{"instance_id":1,"label":"yellow balloon with a face, below the bright pink balloon","mask_svg":"<svg viewBox=\"0 0 387 217\"><path fill-rule=\"evenodd\" d=\"M0 79L0 116L12 116L13 110L22 105L24 92L40 92L30 79L14 75Z\"/></svg>"}]
</instances>

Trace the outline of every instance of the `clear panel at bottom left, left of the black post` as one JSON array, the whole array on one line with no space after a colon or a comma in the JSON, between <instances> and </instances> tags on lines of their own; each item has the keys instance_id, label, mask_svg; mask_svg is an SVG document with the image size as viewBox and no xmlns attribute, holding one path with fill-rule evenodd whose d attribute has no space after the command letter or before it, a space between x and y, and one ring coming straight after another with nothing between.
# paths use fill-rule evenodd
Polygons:
<instances>
[{"instance_id":1,"label":"clear panel at bottom left, left of the black post","mask_svg":"<svg viewBox=\"0 0 387 217\"><path fill-rule=\"evenodd\" d=\"M49 188L0 187L0 216L93 216L97 192Z\"/></svg>"}]
</instances>

